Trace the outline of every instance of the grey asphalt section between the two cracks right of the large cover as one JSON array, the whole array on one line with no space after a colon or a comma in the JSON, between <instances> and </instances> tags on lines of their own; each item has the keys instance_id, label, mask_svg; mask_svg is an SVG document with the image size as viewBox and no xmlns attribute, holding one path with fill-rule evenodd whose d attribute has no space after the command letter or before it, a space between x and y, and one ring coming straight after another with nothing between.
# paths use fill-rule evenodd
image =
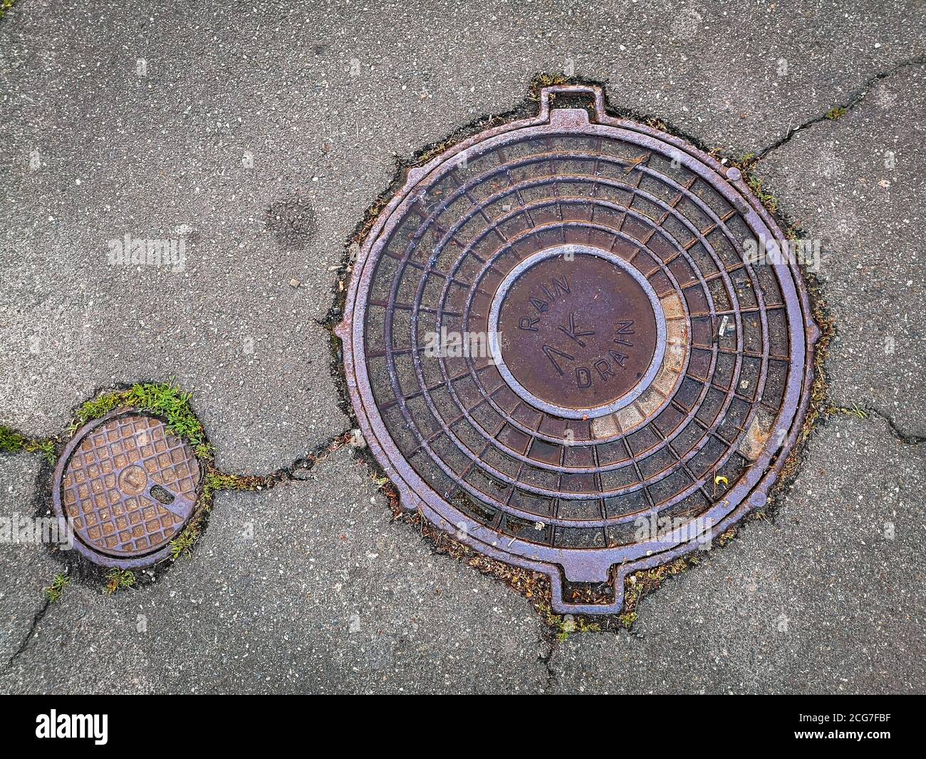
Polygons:
<instances>
[{"instance_id":1,"label":"grey asphalt section between the two cracks right of the large cover","mask_svg":"<svg viewBox=\"0 0 926 759\"><path fill-rule=\"evenodd\" d=\"M926 430L924 116L926 66L904 67L758 166L821 243L820 280L840 327L832 401L882 411L907 435Z\"/></svg>"}]
</instances>

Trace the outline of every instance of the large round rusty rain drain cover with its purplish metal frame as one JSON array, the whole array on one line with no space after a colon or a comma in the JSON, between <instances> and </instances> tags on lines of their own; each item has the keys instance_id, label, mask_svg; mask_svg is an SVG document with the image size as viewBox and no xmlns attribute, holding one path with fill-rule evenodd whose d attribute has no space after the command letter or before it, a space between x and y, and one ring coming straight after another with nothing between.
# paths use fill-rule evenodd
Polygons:
<instances>
[{"instance_id":1,"label":"large round rusty rain drain cover with its purplish metal frame","mask_svg":"<svg viewBox=\"0 0 926 759\"><path fill-rule=\"evenodd\" d=\"M594 108L551 108L551 95ZM338 335L402 504L551 578L559 612L764 504L818 330L740 172L560 86L408 172ZM603 603L573 603L587 584Z\"/></svg>"}]
</instances>

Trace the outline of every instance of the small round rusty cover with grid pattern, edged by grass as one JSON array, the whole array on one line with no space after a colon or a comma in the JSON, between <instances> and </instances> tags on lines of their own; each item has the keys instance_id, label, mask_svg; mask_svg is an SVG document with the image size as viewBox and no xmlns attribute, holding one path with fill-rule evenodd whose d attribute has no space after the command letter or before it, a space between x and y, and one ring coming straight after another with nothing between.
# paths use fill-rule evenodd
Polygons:
<instances>
[{"instance_id":1,"label":"small round rusty cover with grid pattern, edged by grass","mask_svg":"<svg viewBox=\"0 0 926 759\"><path fill-rule=\"evenodd\" d=\"M53 501L94 563L156 563L194 512L201 470L167 425L116 411L84 425L58 461Z\"/></svg>"}]
</instances>

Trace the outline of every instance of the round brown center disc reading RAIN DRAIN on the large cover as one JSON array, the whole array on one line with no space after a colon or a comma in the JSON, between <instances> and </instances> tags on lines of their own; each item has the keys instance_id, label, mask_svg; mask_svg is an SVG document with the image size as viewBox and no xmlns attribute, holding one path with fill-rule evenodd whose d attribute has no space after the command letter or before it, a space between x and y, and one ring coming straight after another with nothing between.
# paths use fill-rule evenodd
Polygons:
<instances>
[{"instance_id":1,"label":"round brown center disc reading RAIN DRAIN on the large cover","mask_svg":"<svg viewBox=\"0 0 926 759\"><path fill-rule=\"evenodd\" d=\"M605 250L549 248L495 294L489 334L498 370L533 406L594 418L646 389L665 351L665 317L643 274Z\"/></svg>"}]
</instances>

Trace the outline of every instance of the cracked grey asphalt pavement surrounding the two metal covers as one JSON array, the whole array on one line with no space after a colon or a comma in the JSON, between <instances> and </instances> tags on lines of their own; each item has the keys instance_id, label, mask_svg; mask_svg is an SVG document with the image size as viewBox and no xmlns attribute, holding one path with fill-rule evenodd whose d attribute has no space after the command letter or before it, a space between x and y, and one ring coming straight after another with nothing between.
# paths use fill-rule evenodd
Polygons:
<instances>
[{"instance_id":1,"label":"cracked grey asphalt pavement surrounding the two metal covers","mask_svg":"<svg viewBox=\"0 0 926 759\"><path fill-rule=\"evenodd\" d=\"M341 435L320 322L394 159L563 70L761 156L821 243L830 401L869 412L825 414L772 518L644 598L632 631L565 642L394 522L348 449L219 493L191 556L114 597L75 581L46 604L61 564L3 545L0 691L926 690L923 13L19 0L0 19L0 424L54 435L97 387L175 377L224 469ZM181 267L110 264L126 234L180 240ZM39 466L0 459L4 515L33 511Z\"/></svg>"}]
</instances>

